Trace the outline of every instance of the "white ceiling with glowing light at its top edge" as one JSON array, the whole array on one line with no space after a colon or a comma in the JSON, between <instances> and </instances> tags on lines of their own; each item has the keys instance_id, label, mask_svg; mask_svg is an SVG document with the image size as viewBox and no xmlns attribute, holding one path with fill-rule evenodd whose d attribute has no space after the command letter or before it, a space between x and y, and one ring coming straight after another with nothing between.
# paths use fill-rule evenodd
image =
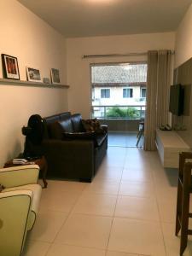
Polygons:
<instances>
[{"instance_id":1,"label":"white ceiling with glowing light at its top edge","mask_svg":"<svg viewBox=\"0 0 192 256\"><path fill-rule=\"evenodd\" d=\"M67 38L175 31L192 0L18 0Z\"/></svg>"}]
</instances>

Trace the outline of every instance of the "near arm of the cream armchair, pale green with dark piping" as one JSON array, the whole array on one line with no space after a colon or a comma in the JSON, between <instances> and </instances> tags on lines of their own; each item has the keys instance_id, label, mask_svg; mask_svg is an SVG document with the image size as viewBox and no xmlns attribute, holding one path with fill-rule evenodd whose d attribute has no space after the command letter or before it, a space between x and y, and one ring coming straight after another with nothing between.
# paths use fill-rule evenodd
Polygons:
<instances>
[{"instance_id":1,"label":"near arm of the cream armchair, pale green with dark piping","mask_svg":"<svg viewBox=\"0 0 192 256\"><path fill-rule=\"evenodd\" d=\"M30 218L32 191L0 193L0 254L20 255Z\"/></svg>"}]
</instances>

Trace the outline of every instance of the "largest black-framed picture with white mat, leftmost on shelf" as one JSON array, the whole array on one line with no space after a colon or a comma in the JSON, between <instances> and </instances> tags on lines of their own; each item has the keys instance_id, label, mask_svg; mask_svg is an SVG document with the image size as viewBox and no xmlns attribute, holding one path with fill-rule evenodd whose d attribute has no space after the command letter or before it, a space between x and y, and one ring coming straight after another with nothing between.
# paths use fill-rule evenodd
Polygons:
<instances>
[{"instance_id":1,"label":"largest black-framed picture with white mat, leftmost on shelf","mask_svg":"<svg viewBox=\"0 0 192 256\"><path fill-rule=\"evenodd\" d=\"M2 54L3 77L5 79L20 80L20 72L17 58L10 55Z\"/></svg>"}]
</instances>

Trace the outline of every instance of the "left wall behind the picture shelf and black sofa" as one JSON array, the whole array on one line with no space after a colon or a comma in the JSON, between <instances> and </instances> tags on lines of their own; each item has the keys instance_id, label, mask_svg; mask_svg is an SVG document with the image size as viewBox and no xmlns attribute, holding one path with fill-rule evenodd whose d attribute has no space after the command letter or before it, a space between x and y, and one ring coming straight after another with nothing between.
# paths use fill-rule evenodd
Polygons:
<instances>
[{"instance_id":1,"label":"left wall behind the picture shelf and black sofa","mask_svg":"<svg viewBox=\"0 0 192 256\"><path fill-rule=\"evenodd\" d=\"M18 58L20 79L26 80L26 66L38 67L43 78L55 67L66 84L66 42L61 34L15 0L1 0L0 9L0 54ZM66 110L67 89L0 84L0 166L23 150L21 127L32 113L46 116Z\"/></svg>"}]
</instances>

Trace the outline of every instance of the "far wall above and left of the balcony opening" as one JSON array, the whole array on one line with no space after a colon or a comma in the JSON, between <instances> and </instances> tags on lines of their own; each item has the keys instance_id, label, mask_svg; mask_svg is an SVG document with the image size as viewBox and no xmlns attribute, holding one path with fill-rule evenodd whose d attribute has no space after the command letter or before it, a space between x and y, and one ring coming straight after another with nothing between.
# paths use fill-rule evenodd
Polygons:
<instances>
[{"instance_id":1,"label":"far wall above and left of the balcony opening","mask_svg":"<svg viewBox=\"0 0 192 256\"><path fill-rule=\"evenodd\" d=\"M90 117L90 63L146 61L147 56L82 59L83 55L147 52L149 49L174 49L175 33L127 36L68 38L67 83L69 109Z\"/></svg>"}]
</instances>

